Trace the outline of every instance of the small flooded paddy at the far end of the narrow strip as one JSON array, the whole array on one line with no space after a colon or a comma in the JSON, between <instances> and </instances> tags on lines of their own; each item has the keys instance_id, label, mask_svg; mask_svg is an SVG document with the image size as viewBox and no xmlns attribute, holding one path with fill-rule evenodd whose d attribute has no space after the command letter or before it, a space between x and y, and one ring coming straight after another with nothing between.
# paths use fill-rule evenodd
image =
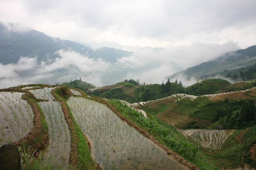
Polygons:
<instances>
[{"instance_id":1,"label":"small flooded paddy at the far end of the narrow strip","mask_svg":"<svg viewBox=\"0 0 256 170\"><path fill-rule=\"evenodd\" d=\"M56 87L54 87L56 88ZM51 95L51 91L54 88L39 88L39 89L34 89L34 90L28 90L30 93L34 94L34 97L37 99L44 99L48 101L54 100L54 97Z\"/></svg>"}]
</instances>

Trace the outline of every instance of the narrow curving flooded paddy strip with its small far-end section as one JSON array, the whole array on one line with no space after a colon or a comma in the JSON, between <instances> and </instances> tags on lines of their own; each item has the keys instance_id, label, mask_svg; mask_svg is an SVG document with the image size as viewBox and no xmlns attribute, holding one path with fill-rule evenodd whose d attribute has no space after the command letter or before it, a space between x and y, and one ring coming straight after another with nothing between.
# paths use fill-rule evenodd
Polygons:
<instances>
[{"instance_id":1,"label":"narrow curving flooded paddy strip with its small far-end section","mask_svg":"<svg viewBox=\"0 0 256 170\"><path fill-rule=\"evenodd\" d=\"M36 96L40 99L53 99L50 93L54 88L36 89ZM62 167L68 166L71 137L64 119L64 114L61 109L60 102L57 101L43 101L39 105L45 115L48 124L49 132L49 147L45 152L44 157L53 156L54 162L61 164Z\"/></svg>"}]
</instances>

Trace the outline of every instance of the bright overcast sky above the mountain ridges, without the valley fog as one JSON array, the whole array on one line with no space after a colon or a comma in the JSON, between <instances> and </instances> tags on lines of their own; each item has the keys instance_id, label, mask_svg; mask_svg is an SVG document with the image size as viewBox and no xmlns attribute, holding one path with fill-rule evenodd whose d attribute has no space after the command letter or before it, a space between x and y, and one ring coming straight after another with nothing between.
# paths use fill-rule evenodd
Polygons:
<instances>
[{"instance_id":1,"label":"bright overcast sky above the mountain ridges, without the valley fog","mask_svg":"<svg viewBox=\"0 0 256 170\"><path fill-rule=\"evenodd\" d=\"M0 20L51 37L140 47L256 44L256 0L0 0Z\"/></svg>"}]
</instances>

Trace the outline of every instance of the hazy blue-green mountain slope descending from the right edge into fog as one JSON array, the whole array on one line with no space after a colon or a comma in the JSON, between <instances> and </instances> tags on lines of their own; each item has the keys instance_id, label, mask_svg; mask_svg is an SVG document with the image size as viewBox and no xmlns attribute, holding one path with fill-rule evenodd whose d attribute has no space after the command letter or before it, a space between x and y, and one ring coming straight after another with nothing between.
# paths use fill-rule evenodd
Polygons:
<instances>
[{"instance_id":1,"label":"hazy blue-green mountain slope descending from the right edge into fog","mask_svg":"<svg viewBox=\"0 0 256 170\"><path fill-rule=\"evenodd\" d=\"M175 73L168 78L187 76L188 79L196 78L198 81L206 78L218 77L225 70L239 69L256 63L256 45L244 50L228 52L214 60L190 67Z\"/></svg>"}]
</instances>

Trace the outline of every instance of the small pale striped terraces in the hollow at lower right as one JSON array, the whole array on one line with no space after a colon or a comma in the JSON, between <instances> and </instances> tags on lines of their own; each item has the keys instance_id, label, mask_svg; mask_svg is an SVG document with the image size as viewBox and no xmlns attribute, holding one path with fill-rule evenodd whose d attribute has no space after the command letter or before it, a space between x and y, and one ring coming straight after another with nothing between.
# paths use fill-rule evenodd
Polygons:
<instances>
[{"instance_id":1,"label":"small pale striped terraces in the hollow at lower right","mask_svg":"<svg viewBox=\"0 0 256 170\"><path fill-rule=\"evenodd\" d=\"M189 136L205 148L221 149L225 140L235 132L235 130L208 130L192 129L179 130L185 136Z\"/></svg>"}]
</instances>

